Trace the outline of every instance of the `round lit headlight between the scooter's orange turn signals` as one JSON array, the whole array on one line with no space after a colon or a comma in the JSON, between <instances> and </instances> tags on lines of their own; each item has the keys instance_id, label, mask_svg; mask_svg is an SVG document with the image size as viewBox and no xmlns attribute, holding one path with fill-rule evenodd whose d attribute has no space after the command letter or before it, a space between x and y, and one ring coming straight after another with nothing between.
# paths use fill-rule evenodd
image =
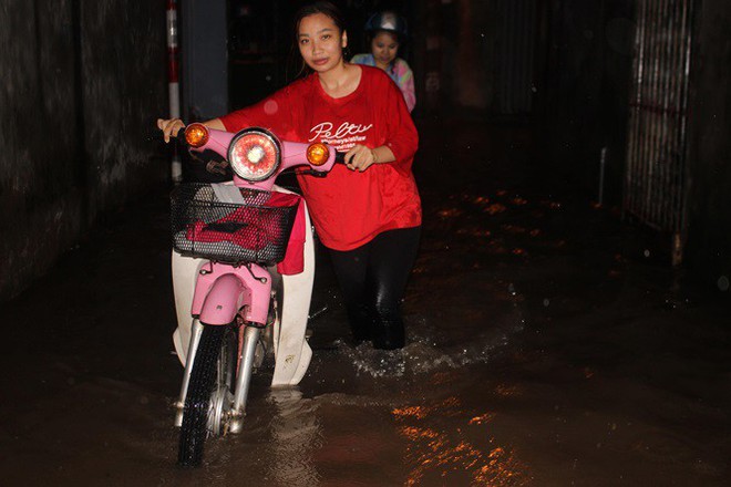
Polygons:
<instances>
[{"instance_id":1,"label":"round lit headlight between the scooter's orange turn signals","mask_svg":"<svg viewBox=\"0 0 731 487\"><path fill-rule=\"evenodd\" d=\"M250 182L265 180L279 168L279 141L264 128L246 128L231 139L228 162L234 173Z\"/></svg>"}]
</instances>

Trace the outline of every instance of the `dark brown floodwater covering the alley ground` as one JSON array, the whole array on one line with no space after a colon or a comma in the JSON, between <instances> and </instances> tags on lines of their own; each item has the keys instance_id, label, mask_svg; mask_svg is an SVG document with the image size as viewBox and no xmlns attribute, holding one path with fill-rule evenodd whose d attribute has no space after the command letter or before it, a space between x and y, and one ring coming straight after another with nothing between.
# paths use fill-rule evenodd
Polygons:
<instances>
[{"instance_id":1,"label":"dark brown floodwater covering the alley ground","mask_svg":"<svg viewBox=\"0 0 731 487\"><path fill-rule=\"evenodd\" d=\"M299 387L175 466L165 198L3 305L0 485L731 485L728 292L540 167L527 132L423 124L400 352L349 345L321 260ZM454 128L452 128L454 129Z\"/></svg>"}]
</instances>

